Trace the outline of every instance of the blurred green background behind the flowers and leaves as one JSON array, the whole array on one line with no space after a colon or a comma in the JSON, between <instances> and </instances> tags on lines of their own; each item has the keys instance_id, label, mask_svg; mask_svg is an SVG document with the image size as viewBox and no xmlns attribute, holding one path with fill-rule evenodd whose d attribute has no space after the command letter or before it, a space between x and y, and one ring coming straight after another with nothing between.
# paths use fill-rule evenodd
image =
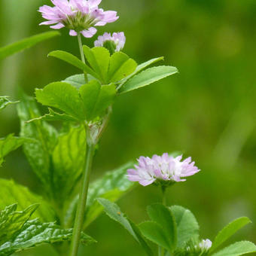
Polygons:
<instances>
[{"instance_id":1,"label":"blurred green background behind the flowers and leaves","mask_svg":"<svg viewBox=\"0 0 256 256\"><path fill-rule=\"evenodd\" d=\"M49 30L40 27L42 0L2 0L0 41L9 44ZM256 2L254 0L103 0L116 10L116 23L102 32L124 31L125 52L138 62L165 56L179 74L120 96L108 130L100 143L93 179L139 155L181 151L202 170L168 191L168 203L187 207L200 222L203 238L213 239L224 224L247 215L253 224L234 239L256 242ZM0 95L18 99L19 87L33 94L78 73L78 69L47 58L50 50L78 55L77 39L62 36L38 44L0 63ZM84 44L93 45L84 38ZM0 136L19 133L14 107L0 113ZM21 150L10 154L0 169L40 193ZM136 223L146 217L145 206L160 200L155 187L137 187L119 204ZM99 242L81 248L81 255L141 256L133 238L102 215L87 230ZM22 255L55 255L49 246ZM21 255L21 254L17 254Z\"/></svg>"}]
</instances>

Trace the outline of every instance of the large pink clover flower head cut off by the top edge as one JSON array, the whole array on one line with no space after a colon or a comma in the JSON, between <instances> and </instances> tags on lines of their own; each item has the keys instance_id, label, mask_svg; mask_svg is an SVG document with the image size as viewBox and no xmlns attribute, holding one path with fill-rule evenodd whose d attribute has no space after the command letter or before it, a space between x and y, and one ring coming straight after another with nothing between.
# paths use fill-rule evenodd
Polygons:
<instances>
[{"instance_id":1,"label":"large pink clover flower head cut off by the top edge","mask_svg":"<svg viewBox=\"0 0 256 256\"><path fill-rule=\"evenodd\" d=\"M40 25L51 25L51 29L67 27L69 35L81 32L85 38L96 34L94 26L105 26L118 19L116 11L104 11L98 5L102 0L51 0L53 7L43 5L39 8L47 21Z\"/></svg>"}]
</instances>

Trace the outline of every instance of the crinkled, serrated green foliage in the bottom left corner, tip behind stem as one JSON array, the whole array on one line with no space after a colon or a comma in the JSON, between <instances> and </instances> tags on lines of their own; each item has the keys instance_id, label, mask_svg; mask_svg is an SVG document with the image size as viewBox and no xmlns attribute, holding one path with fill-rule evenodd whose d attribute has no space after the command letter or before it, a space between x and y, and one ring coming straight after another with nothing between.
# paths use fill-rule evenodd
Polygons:
<instances>
[{"instance_id":1,"label":"crinkled, serrated green foliage in the bottom left corner, tip behind stem","mask_svg":"<svg viewBox=\"0 0 256 256\"><path fill-rule=\"evenodd\" d=\"M0 212L0 255L11 255L44 242L62 242L72 239L72 229L62 230L55 223L41 223L38 219L29 221L38 205L29 206L22 212L15 212L17 205L7 206ZM81 242L89 245L96 242L81 233Z\"/></svg>"}]
</instances>

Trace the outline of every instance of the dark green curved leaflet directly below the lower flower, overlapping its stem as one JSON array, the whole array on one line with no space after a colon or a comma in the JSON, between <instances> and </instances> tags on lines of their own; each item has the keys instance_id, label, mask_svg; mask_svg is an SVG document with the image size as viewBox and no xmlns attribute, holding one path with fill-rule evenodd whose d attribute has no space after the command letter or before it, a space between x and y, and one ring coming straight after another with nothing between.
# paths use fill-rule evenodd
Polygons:
<instances>
[{"instance_id":1,"label":"dark green curved leaflet directly below the lower flower, overlapping its stem","mask_svg":"<svg viewBox=\"0 0 256 256\"><path fill-rule=\"evenodd\" d=\"M169 248L174 251L177 244L177 227L172 212L160 203L148 206L148 215L151 221L159 224L166 232L169 241Z\"/></svg>"}]
</instances>

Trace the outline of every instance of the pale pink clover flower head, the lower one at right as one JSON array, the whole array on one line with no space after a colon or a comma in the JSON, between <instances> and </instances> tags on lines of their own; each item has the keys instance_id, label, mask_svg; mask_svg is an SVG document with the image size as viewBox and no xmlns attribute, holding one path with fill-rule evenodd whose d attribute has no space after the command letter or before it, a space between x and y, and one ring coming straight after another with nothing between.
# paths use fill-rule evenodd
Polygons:
<instances>
[{"instance_id":1,"label":"pale pink clover flower head, the lower one at right","mask_svg":"<svg viewBox=\"0 0 256 256\"><path fill-rule=\"evenodd\" d=\"M139 157L138 165L135 169L127 170L127 178L130 181L139 181L142 186L147 186L154 182L161 184L172 184L174 182L185 181L184 177L194 175L200 169L191 163L191 157L181 161L182 156L172 157L164 153L162 156L154 155L150 157Z\"/></svg>"}]
</instances>

